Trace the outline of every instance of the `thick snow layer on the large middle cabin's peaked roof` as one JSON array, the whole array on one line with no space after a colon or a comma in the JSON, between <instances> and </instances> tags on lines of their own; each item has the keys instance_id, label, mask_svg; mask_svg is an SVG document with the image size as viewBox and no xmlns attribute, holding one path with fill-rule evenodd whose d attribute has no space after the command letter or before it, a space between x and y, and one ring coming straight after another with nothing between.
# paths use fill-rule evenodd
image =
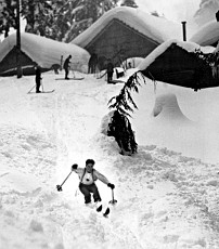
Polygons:
<instances>
[{"instance_id":1,"label":"thick snow layer on the large middle cabin's peaked roof","mask_svg":"<svg viewBox=\"0 0 219 249\"><path fill-rule=\"evenodd\" d=\"M85 48L113 19L119 19L144 36L162 43L169 39L182 39L181 24L153 16L139 8L118 6L110 10L87 30L76 37L72 43Z\"/></svg>"}]
</instances>

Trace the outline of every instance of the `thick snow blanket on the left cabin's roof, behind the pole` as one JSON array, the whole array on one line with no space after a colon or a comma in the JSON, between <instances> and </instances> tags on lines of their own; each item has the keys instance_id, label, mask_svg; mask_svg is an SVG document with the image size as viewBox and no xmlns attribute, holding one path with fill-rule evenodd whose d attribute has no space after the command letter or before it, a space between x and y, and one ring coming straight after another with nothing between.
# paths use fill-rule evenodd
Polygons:
<instances>
[{"instance_id":1,"label":"thick snow blanket on the left cabin's roof, behind the pole","mask_svg":"<svg viewBox=\"0 0 219 249\"><path fill-rule=\"evenodd\" d=\"M16 45L16 34L10 35L0 43L0 61ZM40 37L34 34L21 34L21 49L34 62L41 67L50 68L53 64L60 64L61 56L73 56L73 67L88 64L90 54L82 48ZM74 68L73 68L74 69Z\"/></svg>"}]
</instances>

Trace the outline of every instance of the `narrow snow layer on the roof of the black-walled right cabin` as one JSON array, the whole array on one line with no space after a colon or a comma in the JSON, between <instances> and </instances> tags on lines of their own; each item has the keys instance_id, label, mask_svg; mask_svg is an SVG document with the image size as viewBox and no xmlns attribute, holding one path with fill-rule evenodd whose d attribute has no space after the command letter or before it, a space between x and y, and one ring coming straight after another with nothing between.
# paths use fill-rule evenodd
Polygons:
<instances>
[{"instance_id":1,"label":"narrow snow layer on the roof of the black-walled right cabin","mask_svg":"<svg viewBox=\"0 0 219 249\"><path fill-rule=\"evenodd\" d=\"M146 69L160 54L163 54L172 43L176 43L183 50L188 51L189 53L195 52L195 50L201 50L204 53L211 53L215 51L214 47L201 47L197 43L194 42L188 42L188 41L179 41L177 39L168 40L160 45L158 45L154 51L152 51L144 61L138 66L139 70Z\"/></svg>"}]
</instances>

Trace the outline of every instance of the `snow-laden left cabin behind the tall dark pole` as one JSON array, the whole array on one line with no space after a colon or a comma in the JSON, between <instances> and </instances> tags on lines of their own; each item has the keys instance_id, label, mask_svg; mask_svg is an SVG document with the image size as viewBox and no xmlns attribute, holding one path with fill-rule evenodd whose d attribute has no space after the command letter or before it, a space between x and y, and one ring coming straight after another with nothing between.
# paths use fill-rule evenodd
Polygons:
<instances>
[{"instance_id":1,"label":"snow-laden left cabin behind the tall dark pole","mask_svg":"<svg viewBox=\"0 0 219 249\"><path fill-rule=\"evenodd\" d=\"M61 65L72 54L72 69L87 71L90 54L85 49L40 37L34 34L21 34L21 66L23 75L34 75L36 64L42 70L50 70ZM16 34L10 35L0 43L0 76L16 75Z\"/></svg>"}]
</instances>

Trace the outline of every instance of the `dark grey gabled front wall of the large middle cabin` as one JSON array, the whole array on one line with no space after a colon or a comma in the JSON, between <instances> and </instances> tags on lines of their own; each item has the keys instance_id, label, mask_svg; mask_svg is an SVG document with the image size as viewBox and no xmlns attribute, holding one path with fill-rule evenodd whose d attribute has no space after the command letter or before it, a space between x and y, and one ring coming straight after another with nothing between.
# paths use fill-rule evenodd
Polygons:
<instances>
[{"instance_id":1,"label":"dark grey gabled front wall of the large middle cabin","mask_svg":"<svg viewBox=\"0 0 219 249\"><path fill-rule=\"evenodd\" d=\"M128 57L147 56L157 45L156 41L125 23L113 19L85 49L95 52L105 62L111 58L115 66L119 66Z\"/></svg>"}]
</instances>

